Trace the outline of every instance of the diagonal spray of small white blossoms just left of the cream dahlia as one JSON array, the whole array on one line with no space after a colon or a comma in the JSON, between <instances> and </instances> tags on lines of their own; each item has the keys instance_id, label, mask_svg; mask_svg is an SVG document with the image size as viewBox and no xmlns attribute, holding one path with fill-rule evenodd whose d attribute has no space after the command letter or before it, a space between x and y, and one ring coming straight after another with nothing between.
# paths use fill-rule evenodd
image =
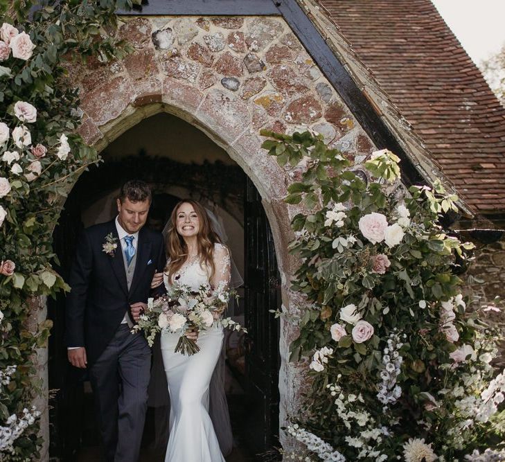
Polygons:
<instances>
[{"instance_id":1,"label":"diagonal spray of small white blossoms just left of the cream dahlia","mask_svg":"<svg viewBox=\"0 0 505 462\"><path fill-rule=\"evenodd\" d=\"M338 375L337 377L341 377ZM389 436L389 431L386 427L376 428L375 420L370 416L369 412L364 409L359 409L364 405L364 399L360 394L355 395L349 393L347 396L342 393L342 388L337 384L328 384L330 395L336 397L335 406L337 407L337 416L342 420L342 423L347 429L357 424L359 436L346 436L345 441L349 447L355 447L358 452L357 459L373 459L376 462L387 460L387 455L382 454L377 449L382 442L383 436Z\"/></svg>"}]
</instances>

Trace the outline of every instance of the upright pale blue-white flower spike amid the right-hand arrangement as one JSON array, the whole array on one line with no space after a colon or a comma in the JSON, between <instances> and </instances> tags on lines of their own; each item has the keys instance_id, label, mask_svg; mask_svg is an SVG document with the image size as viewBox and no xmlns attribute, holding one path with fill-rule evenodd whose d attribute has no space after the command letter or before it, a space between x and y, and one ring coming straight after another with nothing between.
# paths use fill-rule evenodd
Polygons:
<instances>
[{"instance_id":1,"label":"upright pale blue-white flower spike amid the right-hand arrangement","mask_svg":"<svg viewBox=\"0 0 505 462\"><path fill-rule=\"evenodd\" d=\"M400 375L403 358L400 356L399 350L403 344L400 341L398 332L393 331L389 334L387 340L387 347L384 348L384 355L382 355L382 364L384 369L380 372L382 382L379 385L379 392L377 398L384 407L396 402L402 396L402 389L396 384L396 379Z\"/></svg>"}]
</instances>

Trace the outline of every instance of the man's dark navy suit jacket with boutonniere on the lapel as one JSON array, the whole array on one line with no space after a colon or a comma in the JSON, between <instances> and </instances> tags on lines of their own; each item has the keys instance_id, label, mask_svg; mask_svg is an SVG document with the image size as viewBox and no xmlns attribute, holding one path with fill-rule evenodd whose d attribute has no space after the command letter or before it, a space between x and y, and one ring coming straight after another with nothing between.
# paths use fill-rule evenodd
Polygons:
<instances>
[{"instance_id":1,"label":"man's dark navy suit jacket with boutonniere on the lapel","mask_svg":"<svg viewBox=\"0 0 505 462\"><path fill-rule=\"evenodd\" d=\"M114 257L103 251L109 233L117 239ZM139 231L130 290L123 258L114 220L82 231L69 275L65 328L67 346L85 346L88 367L114 337L130 304L148 301L154 271L161 272L166 263L161 233L145 227Z\"/></svg>"}]
</instances>

